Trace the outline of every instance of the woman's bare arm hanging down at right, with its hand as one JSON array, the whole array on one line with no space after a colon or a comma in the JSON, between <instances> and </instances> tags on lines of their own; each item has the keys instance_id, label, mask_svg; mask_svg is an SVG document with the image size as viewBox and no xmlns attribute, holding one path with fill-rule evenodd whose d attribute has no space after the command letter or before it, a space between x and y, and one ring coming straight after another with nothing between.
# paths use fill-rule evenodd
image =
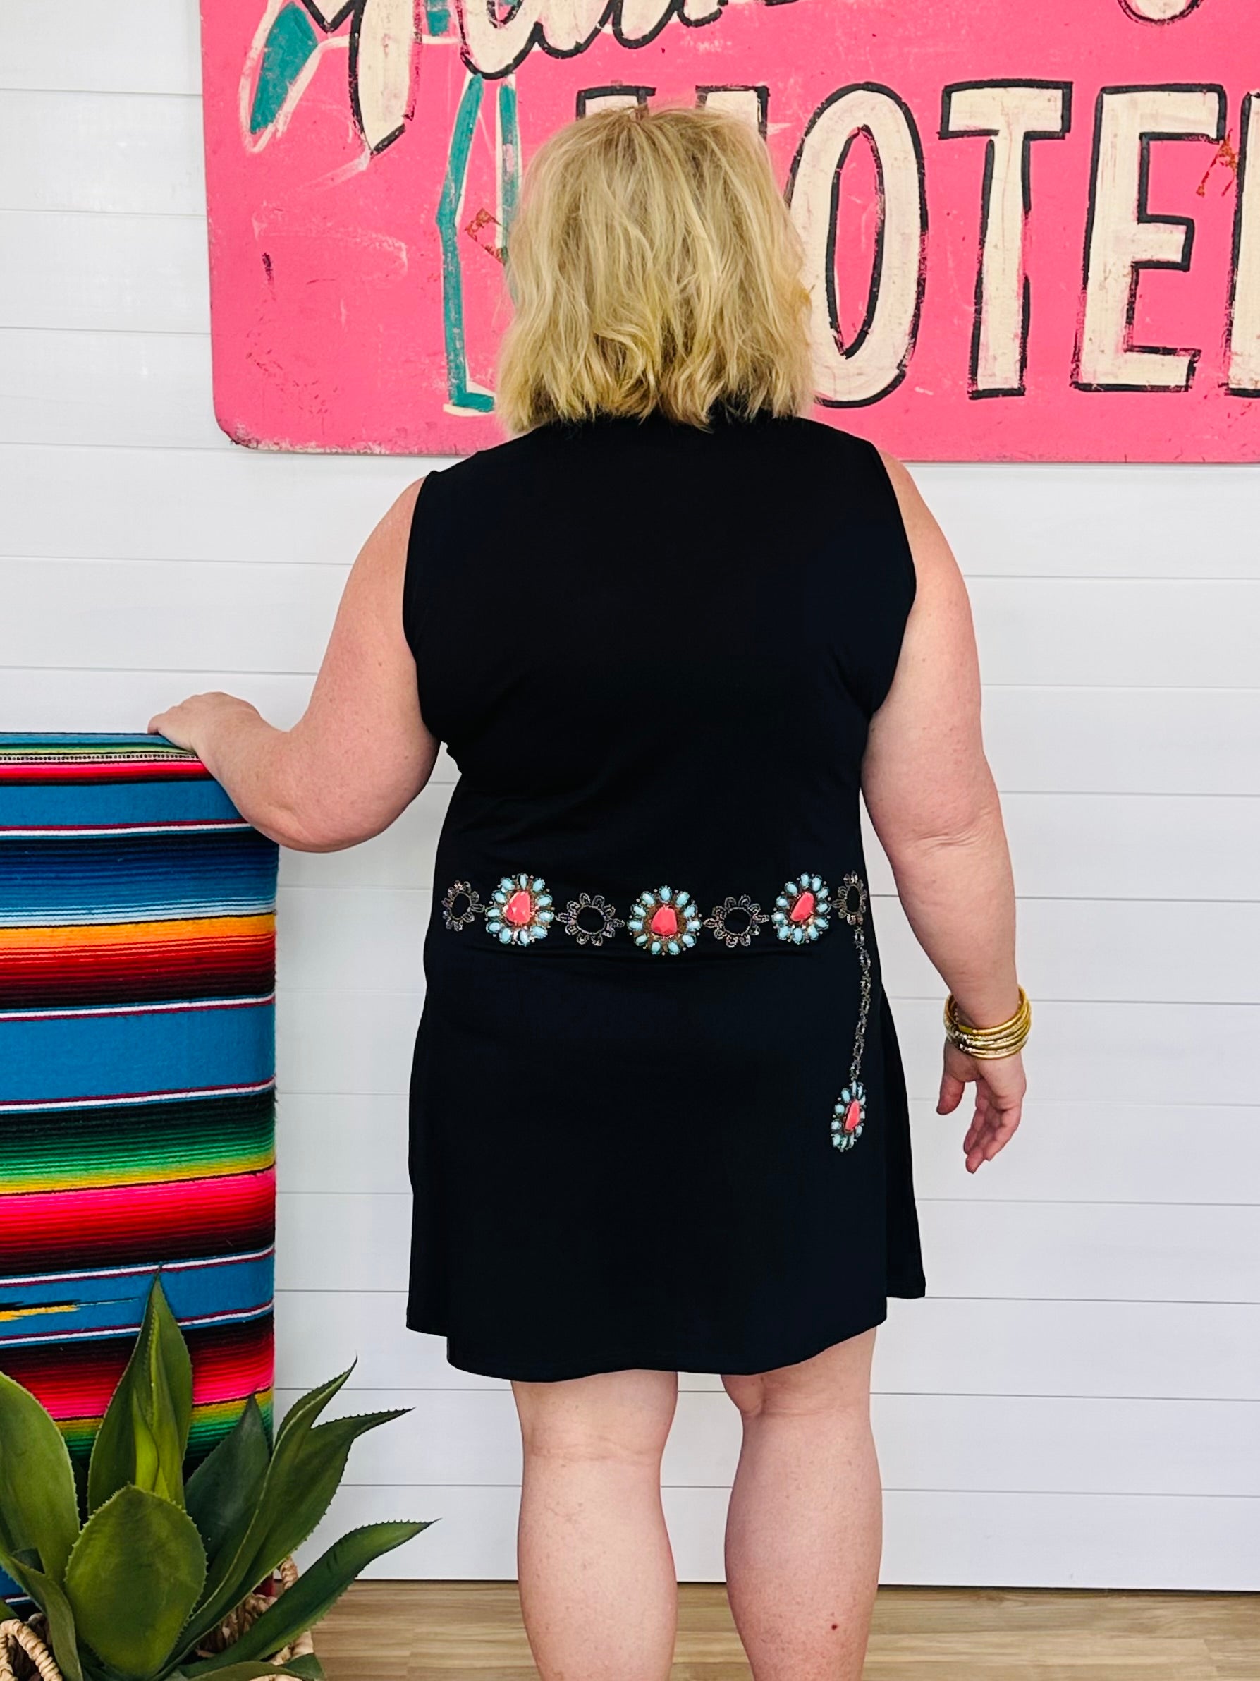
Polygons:
<instances>
[{"instance_id":1,"label":"woman's bare arm hanging down at right, with its hand","mask_svg":"<svg viewBox=\"0 0 1260 1681\"><path fill-rule=\"evenodd\" d=\"M979 730L979 664L958 563L899 461L892 477L917 578L897 674L870 725L862 792L916 938L964 1020L988 1027L1018 1005L1015 888L1001 805ZM937 1108L976 1081L964 1151L974 1172L1020 1121L1018 1056L976 1062L946 1042Z\"/></svg>"}]
</instances>

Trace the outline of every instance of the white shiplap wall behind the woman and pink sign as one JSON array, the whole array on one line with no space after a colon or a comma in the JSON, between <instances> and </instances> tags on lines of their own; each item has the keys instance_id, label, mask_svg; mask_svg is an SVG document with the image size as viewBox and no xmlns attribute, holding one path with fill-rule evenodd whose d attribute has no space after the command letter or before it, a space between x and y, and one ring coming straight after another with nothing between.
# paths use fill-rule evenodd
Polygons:
<instances>
[{"instance_id":1,"label":"white shiplap wall behind the woman and pink sign","mask_svg":"<svg viewBox=\"0 0 1260 1681\"><path fill-rule=\"evenodd\" d=\"M136 730L190 689L294 719L346 566L423 462L247 454L210 408L193 0L0 5L0 728ZM1260 469L932 466L969 575L1037 999L976 1180L932 1113L941 985L872 861L931 1298L877 1358L889 1582L1260 1587ZM403 1330L403 1089L449 768L286 856L279 1383L358 1352L405 1404L343 1528L507 1577L504 1385ZM679 1572L721 1575L736 1417L684 1378Z\"/></svg>"}]
</instances>

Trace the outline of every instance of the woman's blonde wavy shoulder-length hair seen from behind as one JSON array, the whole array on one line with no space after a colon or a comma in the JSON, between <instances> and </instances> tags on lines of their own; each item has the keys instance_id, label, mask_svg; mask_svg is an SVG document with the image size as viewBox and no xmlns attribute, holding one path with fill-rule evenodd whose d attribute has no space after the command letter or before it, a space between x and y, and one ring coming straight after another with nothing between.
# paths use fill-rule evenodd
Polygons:
<instances>
[{"instance_id":1,"label":"woman's blonde wavy shoulder-length hair seen from behind","mask_svg":"<svg viewBox=\"0 0 1260 1681\"><path fill-rule=\"evenodd\" d=\"M648 415L704 429L813 403L803 252L743 119L633 106L578 118L529 161L507 232L499 348L509 432Z\"/></svg>"}]
</instances>

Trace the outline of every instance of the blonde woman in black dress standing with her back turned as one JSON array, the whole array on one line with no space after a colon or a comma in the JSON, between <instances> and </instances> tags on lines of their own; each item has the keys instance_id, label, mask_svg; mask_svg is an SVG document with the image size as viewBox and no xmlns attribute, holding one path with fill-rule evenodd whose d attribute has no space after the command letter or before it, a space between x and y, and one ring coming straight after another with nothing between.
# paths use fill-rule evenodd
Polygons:
<instances>
[{"instance_id":1,"label":"blonde woman in black dress standing with her back turned","mask_svg":"<svg viewBox=\"0 0 1260 1681\"><path fill-rule=\"evenodd\" d=\"M408 1325L512 1383L546 1681L669 1673L679 1370L743 1414L726 1578L756 1681L860 1674L870 1355L924 1273L858 792L953 988L937 1108L974 1084L966 1168L1020 1120L966 593L906 471L808 419L800 272L743 123L554 134L511 234L511 439L385 514L294 730L222 694L150 726L306 851L385 829L438 741L459 765Z\"/></svg>"}]
</instances>

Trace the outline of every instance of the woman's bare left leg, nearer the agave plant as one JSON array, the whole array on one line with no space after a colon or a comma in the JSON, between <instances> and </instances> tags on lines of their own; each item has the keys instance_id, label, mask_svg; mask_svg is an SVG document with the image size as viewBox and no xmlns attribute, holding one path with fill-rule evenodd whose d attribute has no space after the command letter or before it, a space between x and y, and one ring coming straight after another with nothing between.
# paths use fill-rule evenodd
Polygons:
<instances>
[{"instance_id":1,"label":"woman's bare left leg, nearer the agave plant","mask_svg":"<svg viewBox=\"0 0 1260 1681\"><path fill-rule=\"evenodd\" d=\"M677 1390L677 1372L512 1383L521 1610L543 1681L669 1676L679 1595L660 1456Z\"/></svg>"}]
</instances>

